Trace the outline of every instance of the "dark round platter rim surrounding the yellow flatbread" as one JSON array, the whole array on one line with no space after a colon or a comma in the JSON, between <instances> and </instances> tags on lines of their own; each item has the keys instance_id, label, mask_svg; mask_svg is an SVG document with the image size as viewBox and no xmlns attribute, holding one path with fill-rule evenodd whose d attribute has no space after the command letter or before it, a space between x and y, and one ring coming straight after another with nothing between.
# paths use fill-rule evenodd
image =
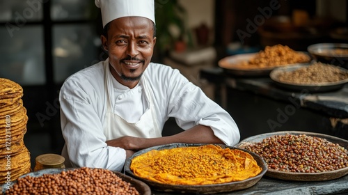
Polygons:
<instances>
[{"instance_id":1,"label":"dark round platter rim surrounding the yellow flatbread","mask_svg":"<svg viewBox=\"0 0 348 195\"><path fill-rule=\"evenodd\" d=\"M246 153L251 154L256 162L258 162L258 165L262 168L262 171L258 176L255 176L253 178L248 178L243 181L237 181L237 182L227 182L227 183L221 183L221 184L214 184L214 185L169 185L169 184L163 184L159 182L155 182L152 180L147 180L144 178L140 178L139 176L134 175L134 173L130 170L130 164L132 162L132 159L134 157L137 157L139 155L142 155L143 153L147 153L150 150L164 150L164 149L171 149L171 148L180 148L180 147L194 147L194 146L203 146L206 145L204 143L200 144L193 144L193 143L172 143L168 145L163 146L155 146L151 148L147 148L144 150L140 150L137 153L134 153L132 157L129 157L125 162L125 173L129 176L132 176L138 180L142 180L143 182L147 183L153 190L157 190L160 192L180 192L180 193L196 193L196 194L216 194L220 192L232 192L239 189L246 189L248 187L251 187L255 185L266 173L267 171L267 164L264 162L264 160L259 156L255 155L255 153L251 153L248 150L244 150L241 148L235 148L231 146L225 146L221 144L215 144L218 146L221 146L221 148L231 148L231 149L237 149L237 150L243 150Z\"/></svg>"}]
</instances>

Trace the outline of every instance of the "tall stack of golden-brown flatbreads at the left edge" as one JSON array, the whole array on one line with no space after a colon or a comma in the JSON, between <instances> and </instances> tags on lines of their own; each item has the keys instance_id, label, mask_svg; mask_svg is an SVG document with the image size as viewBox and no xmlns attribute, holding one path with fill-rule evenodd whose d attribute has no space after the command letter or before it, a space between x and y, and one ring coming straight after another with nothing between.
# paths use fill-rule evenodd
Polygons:
<instances>
[{"instance_id":1,"label":"tall stack of golden-brown flatbreads at the left edge","mask_svg":"<svg viewBox=\"0 0 348 195\"><path fill-rule=\"evenodd\" d=\"M31 171L30 153L24 145L28 116L23 88L0 78L0 182L17 180Z\"/></svg>"}]
</instances>

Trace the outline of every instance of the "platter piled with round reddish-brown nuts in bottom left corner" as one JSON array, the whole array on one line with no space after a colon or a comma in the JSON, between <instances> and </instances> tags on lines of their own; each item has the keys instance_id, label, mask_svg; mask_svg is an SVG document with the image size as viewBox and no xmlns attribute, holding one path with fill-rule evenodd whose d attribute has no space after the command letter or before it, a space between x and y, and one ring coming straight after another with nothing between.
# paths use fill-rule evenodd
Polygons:
<instances>
[{"instance_id":1,"label":"platter piled with round reddish-brown nuts in bottom left corner","mask_svg":"<svg viewBox=\"0 0 348 195\"><path fill-rule=\"evenodd\" d=\"M42 169L1 186L2 194L139 194L151 189L140 180L107 169ZM25 192L25 193L24 193Z\"/></svg>"}]
</instances>

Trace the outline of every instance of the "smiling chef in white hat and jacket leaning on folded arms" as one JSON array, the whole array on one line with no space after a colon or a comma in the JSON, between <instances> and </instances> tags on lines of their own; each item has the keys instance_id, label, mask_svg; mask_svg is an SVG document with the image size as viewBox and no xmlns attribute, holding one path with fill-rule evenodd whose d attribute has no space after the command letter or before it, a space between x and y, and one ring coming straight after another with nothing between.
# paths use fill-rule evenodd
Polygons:
<instances>
[{"instance_id":1,"label":"smiling chef in white hat and jacket leaning on folded arms","mask_svg":"<svg viewBox=\"0 0 348 195\"><path fill-rule=\"evenodd\" d=\"M178 70L151 63L154 0L95 0L106 61L66 79L59 94L65 166L120 171L137 150L168 143L239 142L231 116ZM164 5L165 6L165 5ZM162 137L168 118L183 132Z\"/></svg>"}]
</instances>

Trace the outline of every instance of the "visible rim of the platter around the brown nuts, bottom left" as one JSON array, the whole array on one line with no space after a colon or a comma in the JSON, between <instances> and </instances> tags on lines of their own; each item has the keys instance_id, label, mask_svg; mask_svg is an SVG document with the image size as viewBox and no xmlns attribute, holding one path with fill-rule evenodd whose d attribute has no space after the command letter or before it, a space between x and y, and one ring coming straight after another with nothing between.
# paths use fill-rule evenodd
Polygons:
<instances>
[{"instance_id":1,"label":"visible rim of the platter around the brown nuts, bottom left","mask_svg":"<svg viewBox=\"0 0 348 195\"><path fill-rule=\"evenodd\" d=\"M72 169L77 169L77 168L65 168L65 169L42 169L40 171L34 171L31 173L26 173L23 176L20 176L19 178L24 178L25 176L31 176L31 177L40 177L44 174L58 174L61 173L62 171L68 171L68 170L72 170ZM129 182L132 187L135 187L136 190L140 193L140 194L145 194L145 195L151 195L151 189L148 185L146 185L144 182L140 181L140 180L136 180L132 177L126 176L123 173L117 172L117 171L113 171L113 173L116 174L116 176L118 176L119 178L121 178L122 180L124 180L125 182ZM17 181L13 181L10 183L10 186L14 185ZM6 187L8 187L7 184L2 185L1 186L1 192L2 194L5 194L6 192Z\"/></svg>"}]
</instances>

